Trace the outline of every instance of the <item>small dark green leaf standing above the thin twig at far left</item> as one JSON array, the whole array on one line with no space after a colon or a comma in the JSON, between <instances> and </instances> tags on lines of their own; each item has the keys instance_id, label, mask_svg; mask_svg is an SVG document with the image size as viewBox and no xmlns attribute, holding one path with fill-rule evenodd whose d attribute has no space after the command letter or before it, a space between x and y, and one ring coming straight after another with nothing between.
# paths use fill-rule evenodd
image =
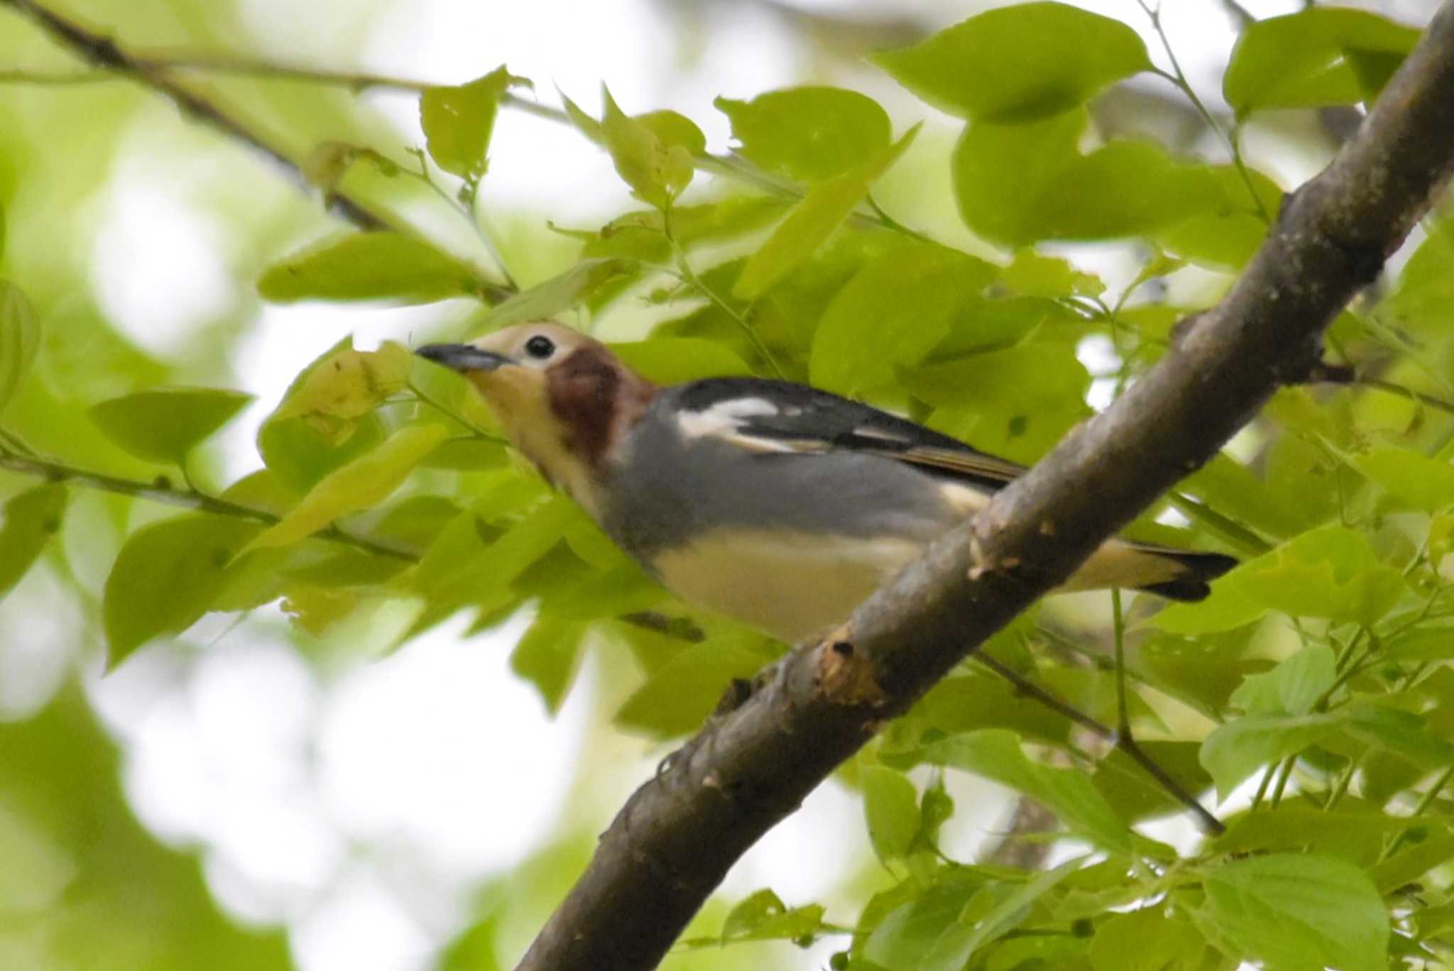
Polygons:
<instances>
[{"instance_id":1,"label":"small dark green leaf standing above the thin twig at far left","mask_svg":"<svg viewBox=\"0 0 1454 971\"><path fill-rule=\"evenodd\" d=\"M186 462L204 439L246 408L253 395L215 388L150 388L102 401L90 417L112 442L151 462Z\"/></svg>"}]
</instances>

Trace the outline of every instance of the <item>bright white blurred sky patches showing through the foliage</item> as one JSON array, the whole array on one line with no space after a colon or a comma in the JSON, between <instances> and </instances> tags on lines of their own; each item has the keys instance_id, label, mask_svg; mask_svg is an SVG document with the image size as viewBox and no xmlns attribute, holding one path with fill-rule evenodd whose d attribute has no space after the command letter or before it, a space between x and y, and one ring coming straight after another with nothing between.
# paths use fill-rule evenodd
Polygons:
<instances>
[{"instance_id":1,"label":"bright white blurred sky patches showing through the foliage","mask_svg":"<svg viewBox=\"0 0 1454 971\"><path fill-rule=\"evenodd\" d=\"M254 35L238 38L237 49L256 47L286 61L443 83L507 63L512 73L535 80L541 99L551 103L558 86L595 106L606 81L627 110L673 108L691 116L715 150L727 147L727 125L712 97L750 97L808 78L871 93L900 131L920 118L941 118L867 65L824 65L756 3L701 4L708 25L698 31L701 48L689 61L673 57L678 32L667 17L679 13L660 0L397 0L377 17L362 47L352 38L346 45L333 39L330 22L346 4L247 0ZM798 6L897 10L941 28L986 4L811 0ZM1133 0L1080 6L1141 29L1153 57L1163 61ZM1216 81L1234 38L1230 20L1218 0L1165 6L1184 67L1204 97L1217 103ZM1245 0L1245 6L1271 16L1301 4ZM1426 6L1413 9L1422 16ZM422 144L413 99L366 97L397 124L400 144ZM173 154L140 131L134 141L97 202L95 282L118 326L142 346L167 353L227 304L236 275L224 246L227 228L193 204L209 179L206 153ZM571 131L505 112L494 145L487 211L507 205L531 209L542 221L592 225L628 205L605 156ZM218 144L214 151L237 148ZM1288 177L1310 174L1303 160L1280 163ZM435 313L266 308L234 362L259 403L227 432L230 477L256 467L256 426L308 360L345 333L371 347L404 337ZM44 603L45 583L28 581L28 597ZM615 786L598 781L586 788L601 829L664 754L601 721L602 692L619 688L602 674L599 657L587 660L560 715L547 718L534 689L506 666L523 629L521 619L468 641L462 624L445 625L394 656L340 663L321 676L281 642L282 624L281 615L266 611L236 628L209 618L186 638L205 647L199 657L183 663L174 651L144 651L96 682L93 698L128 753L126 791L141 818L169 843L204 847L209 884L233 913L286 920L304 971L429 967L465 922L468 891L538 849L570 794L579 797L574 770L583 744L619 779ZM32 628L25 640L44 644L49 637L35 637ZM359 657L356 648L353 656ZM22 690L16 685L26 683L26 672L36 685L55 676L38 651L7 650L4 660L10 683L0 683L0 705L6 692ZM19 682L9 672L19 672ZM965 858L1000 823L1003 799L987 798L986 788L971 789L964 779L955 786L961 813L947 839L948 849ZM823 898L848 875L845 862L868 852L859 814L856 798L836 783L823 786L733 871L727 893L771 885L790 904ZM852 913L830 911L830 917L846 920ZM833 949L806 952L801 967L823 967Z\"/></svg>"}]
</instances>

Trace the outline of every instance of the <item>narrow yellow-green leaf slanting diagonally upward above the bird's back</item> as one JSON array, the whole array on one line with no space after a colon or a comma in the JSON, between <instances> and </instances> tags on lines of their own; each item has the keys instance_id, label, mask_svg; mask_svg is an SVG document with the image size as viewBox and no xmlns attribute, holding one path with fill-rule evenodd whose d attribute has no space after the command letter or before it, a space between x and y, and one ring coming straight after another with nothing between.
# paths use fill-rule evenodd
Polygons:
<instances>
[{"instance_id":1,"label":"narrow yellow-green leaf slanting diagonally upward above the bird's back","mask_svg":"<svg viewBox=\"0 0 1454 971\"><path fill-rule=\"evenodd\" d=\"M788 218L743 266L733 286L733 297L746 301L762 297L768 288L813 256L833 230L852 214L853 206L862 201L878 176L903 154L916 134L919 134L917 125L868 161L808 189L803 202L792 206Z\"/></svg>"}]
</instances>

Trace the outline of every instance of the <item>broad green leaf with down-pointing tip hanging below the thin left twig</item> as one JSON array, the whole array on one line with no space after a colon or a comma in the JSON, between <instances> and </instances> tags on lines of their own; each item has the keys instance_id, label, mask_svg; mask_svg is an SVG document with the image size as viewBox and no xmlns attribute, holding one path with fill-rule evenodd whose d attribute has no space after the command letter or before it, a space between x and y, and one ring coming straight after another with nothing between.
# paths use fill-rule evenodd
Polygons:
<instances>
[{"instance_id":1,"label":"broad green leaf with down-pointing tip hanging below the thin left twig","mask_svg":"<svg viewBox=\"0 0 1454 971\"><path fill-rule=\"evenodd\" d=\"M163 519L126 538L106 577L102 622L115 667L161 634L180 634L227 587L233 563L262 523L225 516Z\"/></svg>"}]
</instances>

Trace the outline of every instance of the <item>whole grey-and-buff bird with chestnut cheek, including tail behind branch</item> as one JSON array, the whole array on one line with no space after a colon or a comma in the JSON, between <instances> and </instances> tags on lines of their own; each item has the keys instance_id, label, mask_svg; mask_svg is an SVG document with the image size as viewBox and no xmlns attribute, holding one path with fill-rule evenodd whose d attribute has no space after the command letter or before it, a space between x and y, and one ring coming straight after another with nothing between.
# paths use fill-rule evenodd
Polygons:
<instances>
[{"instance_id":1,"label":"whole grey-and-buff bird with chestnut cheek, including tail behind branch","mask_svg":"<svg viewBox=\"0 0 1454 971\"><path fill-rule=\"evenodd\" d=\"M660 387L550 321L417 355L467 378L505 436L689 606L820 637L1027 468L790 381ZM1236 565L1109 539L1059 590L1201 600Z\"/></svg>"}]
</instances>

